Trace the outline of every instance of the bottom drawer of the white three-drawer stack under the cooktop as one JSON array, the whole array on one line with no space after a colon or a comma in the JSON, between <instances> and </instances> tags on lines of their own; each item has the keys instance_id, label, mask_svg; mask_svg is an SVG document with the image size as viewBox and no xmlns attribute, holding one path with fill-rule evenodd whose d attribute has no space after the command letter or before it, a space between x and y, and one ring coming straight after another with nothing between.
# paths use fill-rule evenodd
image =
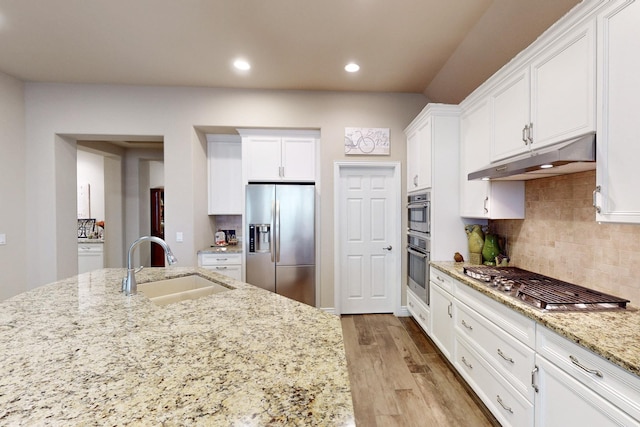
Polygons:
<instances>
[{"instance_id":1,"label":"bottom drawer of the white three-drawer stack under the cooktop","mask_svg":"<svg viewBox=\"0 0 640 427\"><path fill-rule=\"evenodd\" d=\"M459 338L456 338L455 366L501 425L533 426L533 403Z\"/></svg>"}]
</instances>

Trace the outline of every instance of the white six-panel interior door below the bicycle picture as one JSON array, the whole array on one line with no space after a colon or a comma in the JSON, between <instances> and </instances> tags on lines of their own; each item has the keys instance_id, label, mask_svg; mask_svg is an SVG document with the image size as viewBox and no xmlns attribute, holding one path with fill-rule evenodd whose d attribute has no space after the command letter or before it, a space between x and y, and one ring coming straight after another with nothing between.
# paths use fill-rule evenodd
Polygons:
<instances>
[{"instance_id":1,"label":"white six-panel interior door below the bicycle picture","mask_svg":"<svg viewBox=\"0 0 640 427\"><path fill-rule=\"evenodd\" d=\"M399 166L337 164L340 313L392 313L399 301Z\"/></svg>"}]
</instances>

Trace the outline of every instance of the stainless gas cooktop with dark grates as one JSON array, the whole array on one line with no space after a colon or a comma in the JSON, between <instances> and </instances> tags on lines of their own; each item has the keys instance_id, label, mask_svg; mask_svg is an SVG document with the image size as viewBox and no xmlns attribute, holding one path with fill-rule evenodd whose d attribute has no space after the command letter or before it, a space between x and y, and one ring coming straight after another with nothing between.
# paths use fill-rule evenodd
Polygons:
<instances>
[{"instance_id":1,"label":"stainless gas cooktop with dark grates","mask_svg":"<svg viewBox=\"0 0 640 427\"><path fill-rule=\"evenodd\" d=\"M629 302L518 267L464 267L464 274L544 311L622 310Z\"/></svg>"}]
</instances>

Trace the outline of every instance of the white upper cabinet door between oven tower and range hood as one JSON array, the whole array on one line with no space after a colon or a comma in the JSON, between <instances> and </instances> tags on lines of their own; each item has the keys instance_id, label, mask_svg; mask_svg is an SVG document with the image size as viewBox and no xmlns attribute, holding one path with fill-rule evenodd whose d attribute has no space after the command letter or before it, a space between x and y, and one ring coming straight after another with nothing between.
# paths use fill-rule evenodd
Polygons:
<instances>
[{"instance_id":1,"label":"white upper cabinet door between oven tower and range hood","mask_svg":"<svg viewBox=\"0 0 640 427\"><path fill-rule=\"evenodd\" d=\"M467 176L491 162L491 111L483 98L465 109L460 123L460 216L485 218L488 181L469 181Z\"/></svg>"}]
</instances>

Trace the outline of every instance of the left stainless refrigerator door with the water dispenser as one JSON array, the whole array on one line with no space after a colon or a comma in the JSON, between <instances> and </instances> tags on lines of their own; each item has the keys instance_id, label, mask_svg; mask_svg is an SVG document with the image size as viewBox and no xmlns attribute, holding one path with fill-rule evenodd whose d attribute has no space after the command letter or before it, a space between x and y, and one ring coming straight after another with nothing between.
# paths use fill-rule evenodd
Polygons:
<instances>
[{"instance_id":1,"label":"left stainless refrigerator door with the water dispenser","mask_svg":"<svg viewBox=\"0 0 640 427\"><path fill-rule=\"evenodd\" d=\"M275 252L274 252L274 212L275 212L275 185L250 184L247 185L245 221L247 231L250 224L270 224L271 241L270 248L265 252L250 252L250 233L245 237L247 250L247 274L246 281L254 286L261 287L271 292L276 291Z\"/></svg>"}]
</instances>

